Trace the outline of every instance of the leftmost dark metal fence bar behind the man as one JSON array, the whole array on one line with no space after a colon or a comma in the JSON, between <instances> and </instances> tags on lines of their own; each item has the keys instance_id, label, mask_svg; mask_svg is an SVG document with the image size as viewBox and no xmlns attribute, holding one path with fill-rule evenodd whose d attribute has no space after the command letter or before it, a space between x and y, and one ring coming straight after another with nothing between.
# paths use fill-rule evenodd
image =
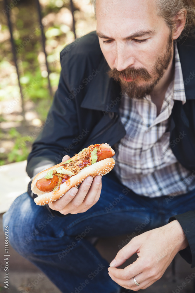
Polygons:
<instances>
[{"instance_id":1,"label":"leftmost dark metal fence bar behind the man","mask_svg":"<svg viewBox=\"0 0 195 293\"><path fill-rule=\"evenodd\" d=\"M7 0L4 0L4 5L5 5L5 9L6 9L6 7L8 6L8 1ZM17 75L18 75L18 85L19 85L19 88L20 88L20 96L21 96L21 102L22 102L22 114L24 116L24 113L25 113L25 111L24 111L24 96L23 96L22 87L21 87L21 84L20 84L20 73L19 73L19 70L18 70L17 55L16 55L16 51L15 51L15 42L14 42L14 39L13 39L13 29L12 29L12 24L11 24L11 20L10 20L10 12L9 12L9 10L6 9L6 13L7 13L7 19L8 19L9 32L10 32L13 60L14 60L16 72L17 72ZM25 116L24 116L24 119L25 119Z\"/></svg>"}]
</instances>

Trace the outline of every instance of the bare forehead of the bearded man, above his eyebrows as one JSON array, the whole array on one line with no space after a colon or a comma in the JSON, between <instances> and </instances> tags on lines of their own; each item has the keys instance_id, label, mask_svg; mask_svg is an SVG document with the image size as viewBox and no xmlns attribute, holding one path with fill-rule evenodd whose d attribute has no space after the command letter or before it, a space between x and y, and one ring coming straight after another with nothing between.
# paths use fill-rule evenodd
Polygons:
<instances>
[{"instance_id":1,"label":"bare forehead of the bearded man, above his eyebrows","mask_svg":"<svg viewBox=\"0 0 195 293\"><path fill-rule=\"evenodd\" d=\"M97 31L126 38L140 30L153 30L158 22L156 0L96 0ZM122 28L122 30L121 30Z\"/></svg>"}]
</instances>

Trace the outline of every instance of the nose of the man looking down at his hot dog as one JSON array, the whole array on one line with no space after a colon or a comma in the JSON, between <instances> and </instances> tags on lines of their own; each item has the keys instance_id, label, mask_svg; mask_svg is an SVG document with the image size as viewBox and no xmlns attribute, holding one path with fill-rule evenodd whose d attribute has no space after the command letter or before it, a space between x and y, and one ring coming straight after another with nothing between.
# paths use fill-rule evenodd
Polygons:
<instances>
[{"instance_id":1,"label":"nose of the man looking down at his hot dog","mask_svg":"<svg viewBox=\"0 0 195 293\"><path fill-rule=\"evenodd\" d=\"M134 63L135 58L132 56L132 54L129 54L129 52L124 50L124 48L117 48L114 67L118 71L122 71Z\"/></svg>"}]
</instances>

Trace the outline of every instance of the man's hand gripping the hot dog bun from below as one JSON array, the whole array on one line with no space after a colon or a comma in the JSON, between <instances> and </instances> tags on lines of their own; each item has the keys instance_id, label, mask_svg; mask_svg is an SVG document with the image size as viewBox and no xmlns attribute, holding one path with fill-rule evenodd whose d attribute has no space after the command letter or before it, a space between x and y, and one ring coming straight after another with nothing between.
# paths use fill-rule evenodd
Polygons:
<instances>
[{"instance_id":1,"label":"man's hand gripping the hot dog bun from below","mask_svg":"<svg viewBox=\"0 0 195 293\"><path fill-rule=\"evenodd\" d=\"M62 162L70 159L70 156L64 156ZM80 185L70 188L66 196L62 196L55 202L49 203L49 207L61 214L78 214L84 213L92 207L100 197L101 193L101 176L88 176Z\"/></svg>"}]
</instances>

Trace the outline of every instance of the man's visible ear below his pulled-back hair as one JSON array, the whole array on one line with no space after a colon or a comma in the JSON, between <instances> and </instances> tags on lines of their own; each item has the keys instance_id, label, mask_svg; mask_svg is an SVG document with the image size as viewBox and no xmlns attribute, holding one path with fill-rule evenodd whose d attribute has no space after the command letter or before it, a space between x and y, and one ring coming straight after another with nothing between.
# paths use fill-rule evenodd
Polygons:
<instances>
[{"instance_id":1,"label":"man's visible ear below his pulled-back hair","mask_svg":"<svg viewBox=\"0 0 195 293\"><path fill-rule=\"evenodd\" d=\"M187 10L182 9L180 10L176 16L174 16L174 23L175 27L172 31L172 38L173 40L176 40L181 35L182 31L184 30L185 24L186 24L186 16L187 16Z\"/></svg>"}]
</instances>

